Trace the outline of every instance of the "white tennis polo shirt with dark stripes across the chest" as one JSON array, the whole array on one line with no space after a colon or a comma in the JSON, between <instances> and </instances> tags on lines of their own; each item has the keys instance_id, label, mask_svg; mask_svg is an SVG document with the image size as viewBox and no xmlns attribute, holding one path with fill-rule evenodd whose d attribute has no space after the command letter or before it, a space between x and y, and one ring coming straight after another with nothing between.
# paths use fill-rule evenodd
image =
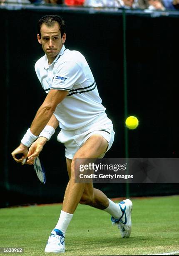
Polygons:
<instances>
[{"instance_id":1,"label":"white tennis polo shirt with dark stripes across the chest","mask_svg":"<svg viewBox=\"0 0 179 256\"><path fill-rule=\"evenodd\" d=\"M45 54L35 63L35 72L46 93L50 90L69 91L54 113L60 128L78 129L105 112L90 67L79 51L70 51L63 46L50 65Z\"/></svg>"}]
</instances>

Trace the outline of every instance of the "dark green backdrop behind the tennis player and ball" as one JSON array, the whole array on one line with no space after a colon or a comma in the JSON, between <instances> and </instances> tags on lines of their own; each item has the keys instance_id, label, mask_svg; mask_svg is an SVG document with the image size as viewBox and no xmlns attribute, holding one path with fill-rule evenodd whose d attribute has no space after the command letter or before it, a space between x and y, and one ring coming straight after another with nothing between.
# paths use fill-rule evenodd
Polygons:
<instances>
[{"instance_id":1,"label":"dark green backdrop behind the tennis player and ball","mask_svg":"<svg viewBox=\"0 0 179 256\"><path fill-rule=\"evenodd\" d=\"M44 14L66 20L66 48L85 55L103 105L114 123L110 158L178 158L178 27L179 12L82 8L0 8L2 160L0 206L62 202L68 177L64 146L57 133L47 142L41 160L47 183L38 182L32 166L20 166L10 152L45 98L34 64L43 55L36 23ZM127 115L139 128L127 131ZM95 184L108 197L172 195L178 184Z\"/></svg>"}]
</instances>

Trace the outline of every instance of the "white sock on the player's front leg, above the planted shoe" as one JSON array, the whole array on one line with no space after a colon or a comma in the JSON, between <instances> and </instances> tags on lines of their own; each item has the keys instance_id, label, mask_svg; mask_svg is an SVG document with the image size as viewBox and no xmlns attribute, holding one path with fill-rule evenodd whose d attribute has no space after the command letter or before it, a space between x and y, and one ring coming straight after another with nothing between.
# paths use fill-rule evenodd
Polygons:
<instances>
[{"instance_id":1,"label":"white sock on the player's front leg, above the planted shoe","mask_svg":"<svg viewBox=\"0 0 179 256\"><path fill-rule=\"evenodd\" d=\"M60 229L64 236L65 236L67 227L70 224L70 221L71 221L72 217L73 217L73 214L70 214L68 212L64 212L64 211L61 210L60 218L59 218L55 228L56 229Z\"/></svg>"}]
</instances>

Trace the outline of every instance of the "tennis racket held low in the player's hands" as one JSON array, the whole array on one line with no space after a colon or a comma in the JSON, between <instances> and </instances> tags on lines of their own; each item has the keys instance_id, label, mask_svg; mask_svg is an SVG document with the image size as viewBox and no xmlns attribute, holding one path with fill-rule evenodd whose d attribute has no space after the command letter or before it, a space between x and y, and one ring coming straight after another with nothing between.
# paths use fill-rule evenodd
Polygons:
<instances>
[{"instance_id":1,"label":"tennis racket held low in the player's hands","mask_svg":"<svg viewBox=\"0 0 179 256\"><path fill-rule=\"evenodd\" d=\"M16 154L16 158L20 159L23 156L23 154ZM23 159L23 163L25 164L26 159ZM45 169L40 163L40 159L37 156L37 158L34 160L34 169L37 174L37 177L39 178L40 182L45 184L46 178L45 178Z\"/></svg>"}]
</instances>

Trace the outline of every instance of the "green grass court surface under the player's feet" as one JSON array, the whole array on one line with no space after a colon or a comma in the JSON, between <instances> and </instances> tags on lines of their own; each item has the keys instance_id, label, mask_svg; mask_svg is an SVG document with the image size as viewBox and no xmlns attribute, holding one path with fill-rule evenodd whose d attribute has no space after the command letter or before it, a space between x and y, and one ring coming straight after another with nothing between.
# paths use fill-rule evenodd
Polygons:
<instances>
[{"instance_id":1,"label":"green grass court surface under the player's feet","mask_svg":"<svg viewBox=\"0 0 179 256\"><path fill-rule=\"evenodd\" d=\"M127 239L120 237L106 212L79 205L67 229L63 255L144 255L179 251L179 196L132 201L133 226ZM23 247L21 255L44 255L47 238L57 223L60 210L61 205L0 209L0 247Z\"/></svg>"}]
</instances>

